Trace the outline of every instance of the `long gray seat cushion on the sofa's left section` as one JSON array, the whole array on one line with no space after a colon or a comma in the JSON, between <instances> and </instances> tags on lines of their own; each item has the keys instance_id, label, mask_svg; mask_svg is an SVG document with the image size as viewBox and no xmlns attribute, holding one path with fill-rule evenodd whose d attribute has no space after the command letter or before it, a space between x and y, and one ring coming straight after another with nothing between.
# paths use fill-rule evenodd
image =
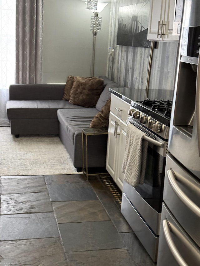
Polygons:
<instances>
[{"instance_id":1,"label":"long gray seat cushion on the sofa's left section","mask_svg":"<svg viewBox=\"0 0 200 266\"><path fill-rule=\"evenodd\" d=\"M62 108L83 108L64 100L8 101L8 119L52 119L57 118L57 110Z\"/></svg>"}]
</instances>

